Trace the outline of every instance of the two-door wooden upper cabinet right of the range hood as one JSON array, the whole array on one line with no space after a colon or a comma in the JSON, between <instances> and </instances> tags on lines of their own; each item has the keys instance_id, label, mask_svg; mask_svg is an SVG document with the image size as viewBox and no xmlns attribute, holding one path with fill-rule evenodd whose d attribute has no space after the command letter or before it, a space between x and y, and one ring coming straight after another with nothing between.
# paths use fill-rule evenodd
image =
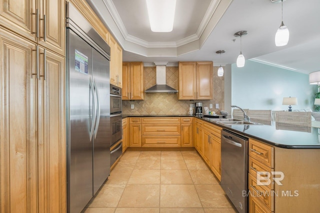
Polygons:
<instances>
[{"instance_id":1,"label":"two-door wooden upper cabinet right of the range hood","mask_svg":"<svg viewBox=\"0 0 320 213\"><path fill-rule=\"evenodd\" d=\"M213 99L212 61L179 62L179 100Z\"/></svg>"}]
</instances>

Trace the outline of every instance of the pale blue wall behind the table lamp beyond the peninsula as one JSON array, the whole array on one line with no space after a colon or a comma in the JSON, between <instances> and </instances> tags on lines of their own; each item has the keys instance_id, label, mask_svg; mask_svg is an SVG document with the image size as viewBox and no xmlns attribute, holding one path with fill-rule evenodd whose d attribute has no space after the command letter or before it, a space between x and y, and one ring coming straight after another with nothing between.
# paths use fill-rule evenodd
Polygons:
<instances>
[{"instance_id":1,"label":"pale blue wall behind the table lamp beyond the peninsula","mask_svg":"<svg viewBox=\"0 0 320 213\"><path fill-rule=\"evenodd\" d=\"M292 109L314 110L316 85L310 85L308 74L294 72L246 60L244 67L231 65L231 103L241 108L287 110L283 97L296 97ZM226 79L225 79L226 82Z\"/></svg>"}]
</instances>

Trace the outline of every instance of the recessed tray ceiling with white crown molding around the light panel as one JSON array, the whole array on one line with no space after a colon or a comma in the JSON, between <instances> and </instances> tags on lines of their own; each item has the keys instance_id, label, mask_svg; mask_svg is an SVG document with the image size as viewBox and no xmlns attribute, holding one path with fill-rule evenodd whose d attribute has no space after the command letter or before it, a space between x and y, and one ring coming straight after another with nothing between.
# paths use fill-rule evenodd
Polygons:
<instances>
[{"instance_id":1,"label":"recessed tray ceiling with white crown molding around the light panel","mask_svg":"<svg viewBox=\"0 0 320 213\"><path fill-rule=\"evenodd\" d=\"M232 2L177 0L173 30L152 32L145 0L87 1L124 50L147 57L174 57L200 49Z\"/></svg>"}]
</instances>

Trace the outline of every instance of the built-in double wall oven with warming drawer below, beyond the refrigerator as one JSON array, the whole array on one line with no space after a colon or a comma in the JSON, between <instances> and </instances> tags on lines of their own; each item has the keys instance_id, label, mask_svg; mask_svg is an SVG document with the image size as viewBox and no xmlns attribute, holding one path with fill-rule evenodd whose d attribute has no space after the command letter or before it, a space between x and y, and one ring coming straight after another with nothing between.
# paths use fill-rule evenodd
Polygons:
<instances>
[{"instance_id":1,"label":"built-in double wall oven with warming drawer below, beyond the refrigerator","mask_svg":"<svg viewBox=\"0 0 320 213\"><path fill-rule=\"evenodd\" d=\"M114 146L122 139L122 100L121 88L110 84L110 126L111 126L111 143ZM110 153L110 165L122 154L122 142L112 147Z\"/></svg>"}]
</instances>

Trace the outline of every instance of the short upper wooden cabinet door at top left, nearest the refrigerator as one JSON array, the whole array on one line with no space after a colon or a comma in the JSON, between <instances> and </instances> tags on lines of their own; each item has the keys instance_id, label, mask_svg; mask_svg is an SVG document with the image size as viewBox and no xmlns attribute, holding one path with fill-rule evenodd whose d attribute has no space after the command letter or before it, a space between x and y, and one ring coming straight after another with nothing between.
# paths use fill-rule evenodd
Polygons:
<instances>
[{"instance_id":1,"label":"short upper wooden cabinet door at top left, nearest the refrigerator","mask_svg":"<svg viewBox=\"0 0 320 213\"><path fill-rule=\"evenodd\" d=\"M38 44L61 55L65 51L65 1L38 0Z\"/></svg>"}]
</instances>

